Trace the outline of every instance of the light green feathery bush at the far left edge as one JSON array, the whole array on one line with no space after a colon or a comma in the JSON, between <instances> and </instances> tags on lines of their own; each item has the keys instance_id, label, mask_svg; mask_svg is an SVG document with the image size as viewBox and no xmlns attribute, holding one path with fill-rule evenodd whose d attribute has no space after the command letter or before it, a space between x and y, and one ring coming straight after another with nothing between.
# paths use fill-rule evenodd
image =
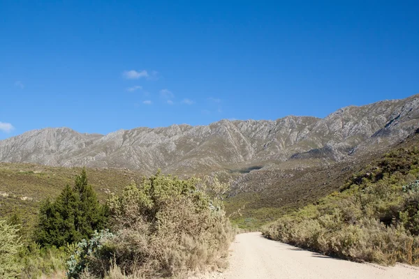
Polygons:
<instances>
[{"instance_id":1,"label":"light green feathery bush at the far left edge","mask_svg":"<svg viewBox=\"0 0 419 279\"><path fill-rule=\"evenodd\" d=\"M17 231L17 226L0 220L0 278L16 278L22 271L17 261L17 253L22 246Z\"/></svg>"}]
</instances>

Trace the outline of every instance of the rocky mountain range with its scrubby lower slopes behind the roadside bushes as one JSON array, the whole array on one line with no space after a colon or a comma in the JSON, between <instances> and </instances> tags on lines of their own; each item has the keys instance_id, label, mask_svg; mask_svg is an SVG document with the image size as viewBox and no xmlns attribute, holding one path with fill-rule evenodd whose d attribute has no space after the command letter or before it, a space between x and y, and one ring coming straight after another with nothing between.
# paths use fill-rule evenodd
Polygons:
<instances>
[{"instance_id":1,"label":"rocky mountain range with its scrubby lower slopes behind the roadside bushes","mask_svg":"<svg viewBox=\"0 0 419 279\"><path fill-rule=\"evenodd\" d=\"M230 181L228 214L240 227L258 227L337 190L395 144L413 144L418 106L416 95L346 107L325 119L223 120L105 136L68 128L30 131L0 141L0 214L17 208L34 213L39 201L73 183L81 165L101 199L161 167Z\"/></svg>"}]
</instances>

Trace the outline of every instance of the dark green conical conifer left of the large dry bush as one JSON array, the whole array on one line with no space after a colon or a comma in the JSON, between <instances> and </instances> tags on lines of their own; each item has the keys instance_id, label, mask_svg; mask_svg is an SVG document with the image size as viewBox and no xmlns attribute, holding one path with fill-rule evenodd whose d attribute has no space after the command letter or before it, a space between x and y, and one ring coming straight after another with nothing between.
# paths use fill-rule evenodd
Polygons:
<instances>
[{"instance_id":1,"label":"dark green conical conifer left of the large dry bush","mask_svg":"<svg viewBox=\"0 0 419 279\"><path fill-rule=\"evenodd\" d=\"M65 246L89 239L94 231L103 229L107 211L98 202L87 183L86 170L75 178L75 186L66 186L57 199L41 205L36 229L36 242L41 246Z\"/></svg>"}]
</instances>

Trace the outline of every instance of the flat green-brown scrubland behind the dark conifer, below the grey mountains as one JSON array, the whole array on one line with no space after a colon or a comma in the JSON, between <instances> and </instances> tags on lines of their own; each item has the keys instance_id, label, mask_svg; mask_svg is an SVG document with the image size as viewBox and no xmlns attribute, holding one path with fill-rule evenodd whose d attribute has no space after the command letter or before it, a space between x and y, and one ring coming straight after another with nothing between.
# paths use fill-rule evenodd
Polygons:
<instances>
[{"instance_id":1,"label":"flat green-brown scrubland behind the dark conifer, below the grey mountains","mask_svg":"<svg viewBox=\"0 0 419 279\"><path fill-rule=\"evenodd\" d=\"M81 167L50 167L25 163L0 163L0 217L18 213L25 230L34 230L38 212L47 197L57 198L66 185L73 185ZM119 193L142 174L128 169L87 169L89 185L99 201Z\"/></svg>"}]
</instances>

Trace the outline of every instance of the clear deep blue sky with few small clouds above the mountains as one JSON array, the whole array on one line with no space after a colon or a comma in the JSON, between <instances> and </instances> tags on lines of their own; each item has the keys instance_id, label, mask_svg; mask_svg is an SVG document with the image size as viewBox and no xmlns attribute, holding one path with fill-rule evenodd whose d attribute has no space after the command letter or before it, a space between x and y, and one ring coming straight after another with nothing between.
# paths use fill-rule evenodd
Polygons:
<instances>
[{"instance_id":1,"label":"clear deep blue sky with few small clouds above the mountains","mask_svg":"<svg viewBox=\"0 0 419 279\"><path fill-rule=\"evenodd\" d=\"M417 1L313 2L0 0L0 139L324 117L419 93Z\"/></svg>"}]
</instances>

